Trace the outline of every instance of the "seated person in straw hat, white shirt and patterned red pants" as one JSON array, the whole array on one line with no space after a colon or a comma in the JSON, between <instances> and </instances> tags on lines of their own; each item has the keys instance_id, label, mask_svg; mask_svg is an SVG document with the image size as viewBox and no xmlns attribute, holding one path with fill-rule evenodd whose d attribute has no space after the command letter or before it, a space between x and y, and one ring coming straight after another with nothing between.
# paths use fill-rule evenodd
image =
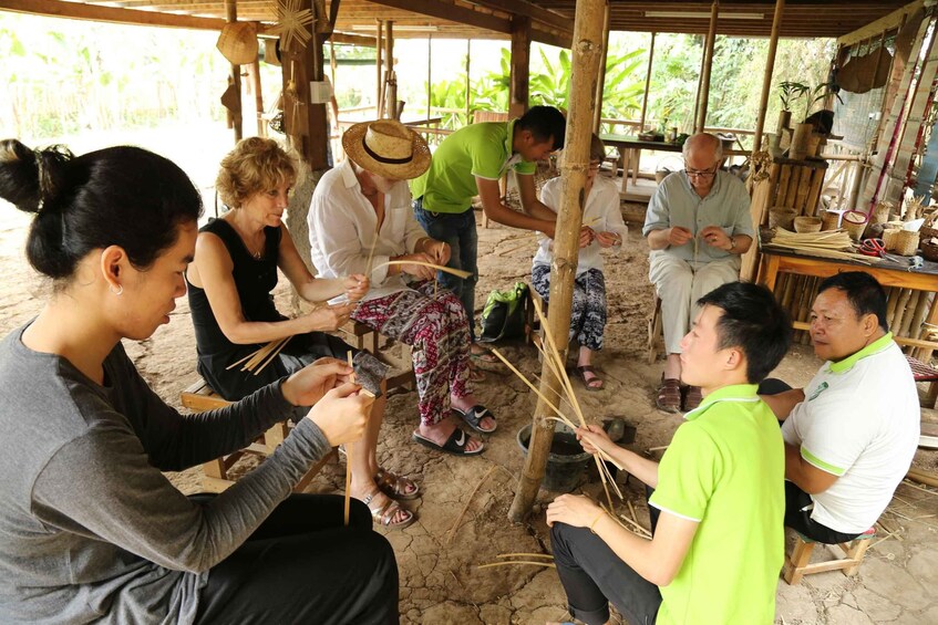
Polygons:
<instances>
[{"instance_id":1,"label":"seated person in straw hat, white shirt and patterned red pants","mask_svg":"<svg viewBox=\"0 0 938 625\"><path fill-rule=\"evenodd\" d=\"M460 456L480 454L483 444L446 418L452 410L484 434L496 427L473 396L465 311L433 280L432 265L446 264L450 246L427 237L411 210L406 180L430 166L426 142L400 122L380 119L350 127L342 147L348 158L322 176L312 195L312 263L326 279L365 273L370 288L352 319L413 346L420 396L414 441Z\"/></svg>"}]
</instances>

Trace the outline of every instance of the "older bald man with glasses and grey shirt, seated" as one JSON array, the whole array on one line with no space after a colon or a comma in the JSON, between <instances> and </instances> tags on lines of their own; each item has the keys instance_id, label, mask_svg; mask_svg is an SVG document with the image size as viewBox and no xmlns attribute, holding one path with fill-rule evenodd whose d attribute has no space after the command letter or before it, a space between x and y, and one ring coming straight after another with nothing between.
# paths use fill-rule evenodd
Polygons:
<instances>
[{"instance_id":1,"label":"older bald man with glasses and grey shirt, seated","mask_svg":"<svg viewBox=\"0 0 938 625\"><path fill-rule=\"evenodd\" d=\"M668 176L648 202L642 235L651 248L649 280L661 299L667 362L658 407L692 410L700 388L681 387L681 337L700 298L740 278L740 256L752 244L745 185L720 170L722 142L698 133L684 143L684 170Z\"/></svg>"}]
</instances>

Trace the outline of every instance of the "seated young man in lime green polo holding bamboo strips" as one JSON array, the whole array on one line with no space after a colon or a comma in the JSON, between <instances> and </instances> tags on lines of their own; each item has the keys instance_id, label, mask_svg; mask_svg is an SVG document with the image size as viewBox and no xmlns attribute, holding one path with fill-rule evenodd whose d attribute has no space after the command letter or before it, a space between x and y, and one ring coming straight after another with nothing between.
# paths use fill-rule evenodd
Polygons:
<instances>
[{"instance_id":1,"label":"seated young man in lime green polo holding bamboo strips","mask_svg":"<svg viewBox=\"0 0 938 625\"><path fill-rule=\"evenodd\" d=\"M586 497L547 509L554 561L569 612L589 625L609 619L609 601L629 623L771 624L782 567L785 457L779 423L756 393L788 350L788 315L763 287L730 282L698 301L681 341L681 376L703 390L661 463L580 428L587 451L602 449L653 488L651 540L619 524ZM656 523L656 517L657 523Z\"/></svg>"}]
</instances>

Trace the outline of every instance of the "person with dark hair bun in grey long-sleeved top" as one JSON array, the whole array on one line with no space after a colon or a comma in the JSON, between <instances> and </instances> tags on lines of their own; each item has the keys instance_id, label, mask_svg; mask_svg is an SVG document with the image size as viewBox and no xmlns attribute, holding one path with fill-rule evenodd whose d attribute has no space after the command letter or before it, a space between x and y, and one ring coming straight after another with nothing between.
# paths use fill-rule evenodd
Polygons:
<instances>
[{"instance_id":1,"label":"person with dark hair bun in grey long-sleeved top","mask_svg":"<svg viewBox=\"0 0 938 625\"><path fill-rule=\"evenodd\" d=\"M198 191L135 147L73 157L0 142L0 197L35 217L30 263L53 280L0 342L0 622L396 623L390 544L353 502L291 494L370 399L326 360L218 410L181 416L121 344L169 322L192 261ZM270 458L218 496L178 471L310 406Z\"/></svg>"}]
</instances>

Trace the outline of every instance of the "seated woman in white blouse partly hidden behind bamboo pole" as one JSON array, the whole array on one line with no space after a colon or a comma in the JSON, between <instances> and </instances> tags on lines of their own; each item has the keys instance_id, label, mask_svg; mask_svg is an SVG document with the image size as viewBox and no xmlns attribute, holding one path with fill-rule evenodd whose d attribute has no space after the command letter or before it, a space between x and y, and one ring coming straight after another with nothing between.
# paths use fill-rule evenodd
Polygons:
<instances>
[{"instance_id":1,"label":"seated woman in white blouse partly hidden behind bamboo pole","mask_svg":"<svg viewBox=\"0 0 938 625\"><path fill-rule=\"evenodd\" d=\"M606 327L606 280L602 277L600 248L620 247L628 229L619 208L619 189L604 176L597 176L606 158L606 146L592 135L589 146L589 173L586 176L586 208L583 223L589 229L580 236L579 262L574 282L570 316L570 341L579 343L577 374L587 390L602 388L602 379L592 368L592 353L602 348ZM560 178L548 180L540 191L540 201L557 212L560 207ZM530 270L535 291L547 301L550 291L550 261L554 241L539 233L539 248Z\"/></svg>"}]
</instances>

